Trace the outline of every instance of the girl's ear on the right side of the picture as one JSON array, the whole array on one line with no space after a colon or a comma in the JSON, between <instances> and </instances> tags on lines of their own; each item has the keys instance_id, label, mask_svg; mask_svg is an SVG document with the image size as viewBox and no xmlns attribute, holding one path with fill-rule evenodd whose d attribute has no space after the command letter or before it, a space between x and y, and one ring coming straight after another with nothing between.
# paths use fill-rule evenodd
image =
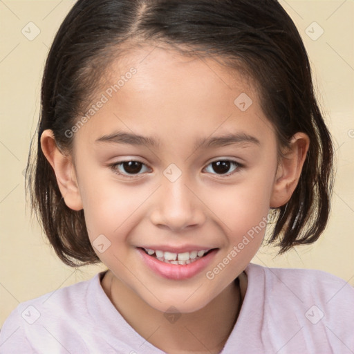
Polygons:
<instances>
[{"instance_id":1,"label":"girl's ear on the right side of the picture","mask_svg":"<svg viewBox=\"0 0 354 354\"><path fill-rule=\"evenodd\" d=\"M288 203L294 192L304 166L310 139L299 132L292 136L290 148L283 153L274 179L270 207L281 207Z\"/></svg>"}]
</instances>

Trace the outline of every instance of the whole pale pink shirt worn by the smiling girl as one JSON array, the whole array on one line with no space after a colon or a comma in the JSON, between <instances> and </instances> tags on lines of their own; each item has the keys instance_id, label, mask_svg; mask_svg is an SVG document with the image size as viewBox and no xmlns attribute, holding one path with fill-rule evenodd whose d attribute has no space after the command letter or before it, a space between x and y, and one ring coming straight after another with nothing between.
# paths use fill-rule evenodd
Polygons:
<instances>
[{"instance_id":1,"label":"whole pale pink shirt worn by the smiling girl","mask_svg":"<svg viewBox=\"0 0 354 354\"><path fill-rule=\"evenodd\" d=\"M354 288L319 270L250 263L241 313L222 354L353 354ZM163 354L140 337L102 289L104 272L19 304L0 353Z\"/></svg>"}]
</instances>

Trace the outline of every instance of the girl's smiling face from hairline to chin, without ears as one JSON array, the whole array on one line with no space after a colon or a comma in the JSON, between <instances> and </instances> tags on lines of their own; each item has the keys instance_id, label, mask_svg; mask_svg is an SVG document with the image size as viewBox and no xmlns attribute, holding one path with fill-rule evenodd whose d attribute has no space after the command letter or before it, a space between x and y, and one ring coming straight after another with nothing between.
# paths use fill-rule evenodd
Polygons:
<instances>
[{"instance_id":1,"label":"girl's smiling face from hairline to chin, without ears","mask_svg":"<svg viewBox=\"0 0 354 354\"><path fill-rule=\"evenodd\" d=\"M93 248L121 286L187 313L259 249L277 145L257 92L235 71L151 50L113 64L73 129L75 177Z\"/></svg>"}]
</instances>

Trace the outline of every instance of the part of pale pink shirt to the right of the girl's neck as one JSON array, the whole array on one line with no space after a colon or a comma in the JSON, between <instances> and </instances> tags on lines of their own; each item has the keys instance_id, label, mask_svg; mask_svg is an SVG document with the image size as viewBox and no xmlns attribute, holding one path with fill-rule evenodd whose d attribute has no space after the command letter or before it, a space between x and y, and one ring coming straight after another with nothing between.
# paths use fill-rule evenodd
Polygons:
<instances>
[{"instance_id":1,"label":"part of pale pink shirt to the right of the girl's neck","mask_svg":"<svg viewBox=\"0 0 354 354\"><path fill-rule=\"evenodd\" d=\"M245 353L353 353L354 288L322 270L250 263L229 346ZM242 338L242 340L240 339Z\"/></svg>"}]
</instances>

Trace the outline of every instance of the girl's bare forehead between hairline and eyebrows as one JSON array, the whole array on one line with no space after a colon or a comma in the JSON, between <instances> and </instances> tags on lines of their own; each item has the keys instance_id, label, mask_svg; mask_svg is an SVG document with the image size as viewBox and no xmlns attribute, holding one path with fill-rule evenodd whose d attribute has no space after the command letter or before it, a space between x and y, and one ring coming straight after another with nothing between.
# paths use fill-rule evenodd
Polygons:
<instances>
[{"instance_id":1,"label":"girl's bare forehead between hairline and eyebrows","mask_svg":"<svg viewBox=\"0 0 354 354\"><path fill-rule=\"evenodd\" d=\"M251 80L209 57L156 46L131 49L112 62L97 91L84 112L89 122L77 134L88 132L90 143L122 129L156 136L162 145L178 136L201 140L234 128L259 131L260 137L265 128L272 130Z\"/></svg>"}]
</instances>

